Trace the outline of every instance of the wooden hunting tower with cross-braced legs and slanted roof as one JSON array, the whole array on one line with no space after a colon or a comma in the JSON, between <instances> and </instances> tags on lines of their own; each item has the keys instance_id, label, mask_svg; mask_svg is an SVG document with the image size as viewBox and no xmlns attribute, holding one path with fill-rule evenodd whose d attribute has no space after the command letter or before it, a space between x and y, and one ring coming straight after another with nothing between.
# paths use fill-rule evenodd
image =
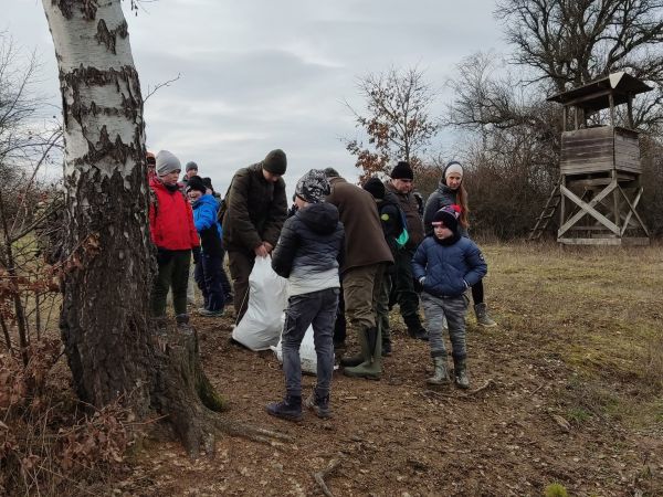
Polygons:
<instances>
[{"instance_id":1,"label":"wooden hunting tower with cross-braced legs and slanted roof","mask_svg":"<svg viewBox=\"0 0 663 497\"><path fill-rule=\"evenodd\" d=\"M533 235L559 204L559 243L649 244L649 231L636 211L642 197L642 167L632 104L635 95L650 89L620 72L548 98L564 105L560 180ZM627 104L628 128L615 126L615 107L622 104ZM603 109L610 109L610 125L588 125L588 118Z\"/></svg>"}]
</instances>

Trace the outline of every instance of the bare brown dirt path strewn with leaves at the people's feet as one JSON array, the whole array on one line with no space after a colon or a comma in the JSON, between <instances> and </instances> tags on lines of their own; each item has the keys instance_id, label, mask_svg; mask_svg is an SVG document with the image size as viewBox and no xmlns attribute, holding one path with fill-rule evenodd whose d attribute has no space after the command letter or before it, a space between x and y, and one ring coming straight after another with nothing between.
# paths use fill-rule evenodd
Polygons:
<instances>
[{"instance_id":1,"label":"bare brown dirt path strewn with leaves at the people's feet","mask_svg":"<svg viewBox=\"0 0 663 497\"><path fill-rule=\"evenodd\" d=\"M283 392L274 355L231 345L229 320L197 318L206 370L232 401L227 415L295 442L227 437L215 458L193 462L179 445L159 443L116 488L149 496L323 495L313 475L339 459L326 477L336 496L540 496L556 482L573 496L663 495L662 423L638 429L600 411L570 415L575 372L556 353L559 337L541 335L537 318L511 319L526 310L509 306L496 302L498 328L480 329L470 319L471 389L485 389L429 390L428 343L397 325L382 380L336 372L334 417L308 414L299 424L264 412ZM305 391L314 381L304 378Z\"/></svg>"}]
</instances>

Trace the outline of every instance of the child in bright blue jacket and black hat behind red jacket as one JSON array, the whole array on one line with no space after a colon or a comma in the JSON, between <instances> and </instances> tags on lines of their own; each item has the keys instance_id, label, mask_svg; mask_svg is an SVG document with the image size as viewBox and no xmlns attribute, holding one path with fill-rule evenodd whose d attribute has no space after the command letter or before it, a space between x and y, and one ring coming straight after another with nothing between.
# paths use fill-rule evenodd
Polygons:
<instances>
[{"instance_id":1,"label":"child in bright blue jacket and black hat behind red jacket","mask_svg":"<svg viewBox=\"0 0 663 497\"><path fill-rule=\"evenodd\" d=\"M221 245L221 226L217 220L219 202L213 195L207 193L207 187L198 176L189 178L187 197L193 209L193 224L200 235L202 253L196 263L193 277L204 305L198 313L201 316L223 316L225 299L223 296L222 263L223 247Z\"/></svg>"}]
</instances>

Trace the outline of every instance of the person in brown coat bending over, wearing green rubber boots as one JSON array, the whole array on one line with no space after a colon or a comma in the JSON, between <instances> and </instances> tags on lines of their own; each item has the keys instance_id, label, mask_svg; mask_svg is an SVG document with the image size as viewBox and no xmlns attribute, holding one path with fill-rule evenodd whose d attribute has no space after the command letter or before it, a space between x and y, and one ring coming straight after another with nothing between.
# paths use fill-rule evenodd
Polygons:
<instances>
[{"instance_id":1,"label":"person in brown coat bending over, wearing green rubber boots","mask_svg":"<svg viewBox=\"0 0 663 497\"><path fill-rule=\"evenodd\" d=\"M326 202L338 209L346 233L340 266L346 319L361 346L360 355L344 358L340 363L348 377L378 380L382 372L382 342L376 304L385 268L393 264L393 257L372 195L348 183L333 168L325 173L332 186Z\"/></svg>"}]
</instances>

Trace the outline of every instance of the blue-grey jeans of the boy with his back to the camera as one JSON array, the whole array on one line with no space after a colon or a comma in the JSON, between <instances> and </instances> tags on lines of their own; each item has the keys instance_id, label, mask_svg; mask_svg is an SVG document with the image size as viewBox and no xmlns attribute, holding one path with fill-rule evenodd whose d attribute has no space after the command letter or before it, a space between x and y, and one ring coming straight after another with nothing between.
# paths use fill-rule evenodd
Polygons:
<instances>
[{"instance_id":1,"label":"blue-grey jeans of the boy with his back to the camera","mask_svg":"<svg viewBox=\"0 0 663 497\"><path fill-rule=\"evenodd\" d=\"M317 356L316 393L329 394L334 371L334 321L338 307L338 288L326 288L309 294L293 295L287 302L281 347L283 372L288 395L302 396L302 362L299 346L306 329L313 325L313 339Z\"/></svg>"}]
</instances>

